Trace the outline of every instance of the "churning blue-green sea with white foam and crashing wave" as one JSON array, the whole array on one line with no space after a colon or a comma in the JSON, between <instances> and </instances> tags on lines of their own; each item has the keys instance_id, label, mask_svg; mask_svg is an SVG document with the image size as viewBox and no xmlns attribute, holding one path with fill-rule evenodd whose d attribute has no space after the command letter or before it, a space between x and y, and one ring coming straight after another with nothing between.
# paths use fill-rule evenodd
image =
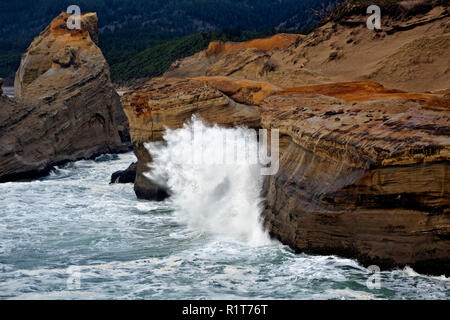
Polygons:
<instances>
[{"instance_id":1,"label":"churning blue-green sea with white foam and crashing wave","mask_svg":"<svg viewBox=\"0 0 450 320\"><path fill-rule=\"evenodd\" d=\"M295 254L270 240L257 167L166 158L176 148L186 160L190 129L149 145L160 155L155 174L169 175L174 192L163 203L137 200L132 184L109 184L131 153L0 184L0 299L450 298L445 277L406 268L381 272L370 289L373 273L354 260ZM215 153L207 141L205 154Z\"/></svg>"}]
</instances>

